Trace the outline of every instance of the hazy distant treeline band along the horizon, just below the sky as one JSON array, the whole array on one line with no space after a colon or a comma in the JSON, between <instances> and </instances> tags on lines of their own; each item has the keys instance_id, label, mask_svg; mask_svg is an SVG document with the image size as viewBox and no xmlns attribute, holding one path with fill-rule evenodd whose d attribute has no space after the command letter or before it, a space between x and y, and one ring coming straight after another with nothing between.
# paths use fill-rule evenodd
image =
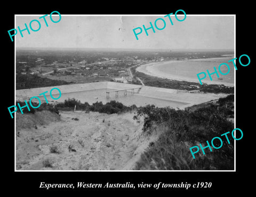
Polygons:
<instances>
[{"instance_id":1,"label":"hazy distant treeline band along the horizon, just below the sky","mask_svg":"<svg viewBox=\"0 0 256 197\"><path fill-rule=\"evenodd\" d=\"M193 54L189 54L193 53ZM81 62L86 61L87 63L94 63L98 61L105 61L107 58L123 59L125 57L137 57L137 59L144 59L150 61L155 58L210 58L210 57L222 57L224 53L233 54L231 51L202 51L202 50L188 50L186 51L175 51L175 50L135 50L135 49L115 49L111 51L109 48L107 50L100 49L90 49L90 50L77 50L77 49L67 49L67 50L46 50L39 48L31 49L19 49L17 50L16 59L18 62L27 62L27 65L34 67L38 63L37 58L43 58L44 63L51 64L55 61L58 63L69 63L69 62Z\"/></svg>"}]
</instances>

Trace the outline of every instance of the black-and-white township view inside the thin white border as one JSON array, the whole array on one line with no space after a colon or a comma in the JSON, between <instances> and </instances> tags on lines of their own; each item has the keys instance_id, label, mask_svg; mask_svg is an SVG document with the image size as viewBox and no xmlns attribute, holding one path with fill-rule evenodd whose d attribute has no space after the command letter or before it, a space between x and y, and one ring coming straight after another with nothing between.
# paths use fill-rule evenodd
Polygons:
<instances>
[{"instance_id":1,"label":"black-and-white township view inside the thin white border","mask_svg":"<svg viewBox=\"0 0 256 197\"><path fill-rule=\"evenodd\" d=\"M235 170L235 15L40 17L15 20L16 170Z\"/></svg>"}]
</instances>

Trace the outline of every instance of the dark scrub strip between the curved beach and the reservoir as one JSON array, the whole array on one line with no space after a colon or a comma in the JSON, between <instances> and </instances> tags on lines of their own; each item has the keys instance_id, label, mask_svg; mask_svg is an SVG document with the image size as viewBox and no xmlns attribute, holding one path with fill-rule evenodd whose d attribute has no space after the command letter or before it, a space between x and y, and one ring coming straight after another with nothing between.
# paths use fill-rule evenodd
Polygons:
<instances>
[{"instance_id":1,"label":"dark scrub strip between the curved beach and the reservoir","mask_svg":"<svg viewBox=\"0 0 256 197\"><path fill-rule=\"evenodd\" d=\"M205 84L202 85L196 82L178 81L157 78L155 76L149 76L145 73L135 71L135 67L131 68L134 76L139 77L145 85L158 87L158 88L170 88L178 90L199 90L201 92L209 93L234 93L234 87L227 87L225 85L217 84Z\"/></svg>"}]
</instances>

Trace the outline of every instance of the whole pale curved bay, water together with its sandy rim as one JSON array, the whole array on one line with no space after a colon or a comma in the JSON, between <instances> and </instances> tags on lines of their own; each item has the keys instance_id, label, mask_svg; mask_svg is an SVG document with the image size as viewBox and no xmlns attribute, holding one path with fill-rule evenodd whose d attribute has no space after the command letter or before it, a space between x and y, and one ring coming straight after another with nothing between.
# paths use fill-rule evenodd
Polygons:
<instances>
[{"instance_id":1,"label":"whole pale curved bay, water together with its sandy rim","mask_svg":"<svg viewBox=\"0 0 256 197\"><path fill-rule=\"evenodd\" d=\"M166 78L170 80L178 81L190 81L199 82L197 73L206 72L207 69L213 72L216 67L221 63L228 63L232 57L220 57L220 58L205 58L205 59L189 59L186 61L165 61L165 62L153 62L141 65L136 68L136 71L142 72L151 76L157 76L158 78ZM230 63L230 73L228 75L219 74L213 76L213 81L209 79L209 76L202 80L203 83L207 84L224 84L228 86L234 86L234 66ZM221 70L225 73L225 67L222 66ZM215 79L214 79L215 77Z\"/></svg>"}]
</instances>

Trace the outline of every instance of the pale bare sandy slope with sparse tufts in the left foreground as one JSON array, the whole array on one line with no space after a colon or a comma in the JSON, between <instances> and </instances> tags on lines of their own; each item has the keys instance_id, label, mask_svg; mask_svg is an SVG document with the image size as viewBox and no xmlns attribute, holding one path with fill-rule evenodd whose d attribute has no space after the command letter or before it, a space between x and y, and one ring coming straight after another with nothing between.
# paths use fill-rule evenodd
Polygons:
<instances>
[{"instance_id":1,"label":"pale bare sandy slope with sparse tufts in the left foreground","mask_svg":"<svg viewBox=\"0 0 256 197\"><path fill-rule=\"evenodd\" d=\"M60 120L39 113L17 115L17 170L132 169L157 137L142 133L130 113L60 112Z\"/></svg>"}]
</instances>

